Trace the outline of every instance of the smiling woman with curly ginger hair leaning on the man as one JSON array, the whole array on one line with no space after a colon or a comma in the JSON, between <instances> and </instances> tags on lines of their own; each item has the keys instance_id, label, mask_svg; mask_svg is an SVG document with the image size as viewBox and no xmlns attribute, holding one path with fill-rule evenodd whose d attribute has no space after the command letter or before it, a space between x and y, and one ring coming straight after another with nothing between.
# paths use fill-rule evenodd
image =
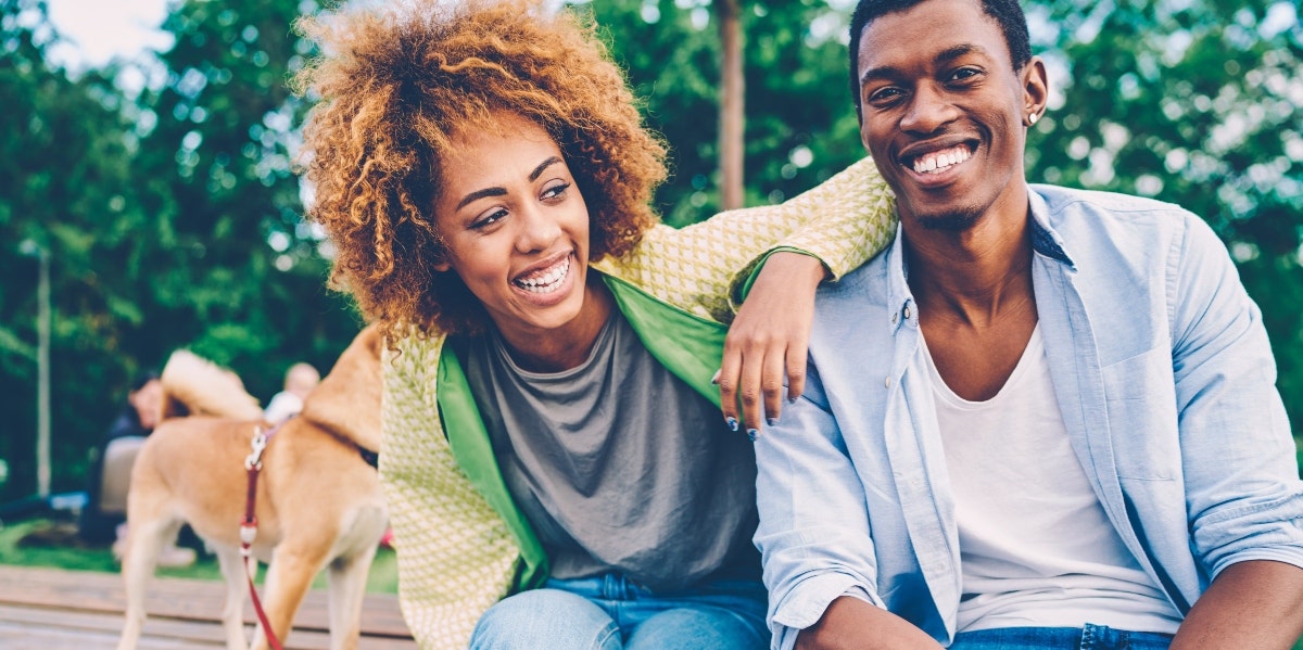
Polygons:
<instances>
[{"instance_id":1,"label":"smiling woman with curly ginger hair leaning on the man","mask_svg":"<svg viewBox=\"0 0 1303 650\"><path fill-rule=\"evenodd\" d=\"M328 52L298 79L310 216L391 350L380 477L417 640L767 646L754 452L711 375L799 386L814 287L893 229L872 163L674 231L649 206L665 147L575 13L416 0L304 27Z\"/></svg>"}]
</instances>

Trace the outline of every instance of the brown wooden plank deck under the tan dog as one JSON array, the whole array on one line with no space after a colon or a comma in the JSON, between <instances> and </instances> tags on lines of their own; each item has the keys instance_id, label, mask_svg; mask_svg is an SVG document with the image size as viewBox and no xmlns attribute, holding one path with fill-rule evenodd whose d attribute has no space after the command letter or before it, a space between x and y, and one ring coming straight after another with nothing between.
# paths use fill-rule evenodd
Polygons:
<instances>
[{"instance_id":1,"label":"brown wooden plank deck under the tan dog","mask_svg":"<svg viewBox=\"0 0 1303 650\"><path fill-rule=\"evenodd\" d=\"M223 647L220 581L155 577L145 608L141 649ZM326 591L310 591L283 640L285 649L330 647ZM116 573L0 565L0 647L34 650L113 649L126 597ZM245 601L246 637L257 617ZM414 650L397 598L367 594L362 607L362 650Z\"/></svg>"}]
</instances>

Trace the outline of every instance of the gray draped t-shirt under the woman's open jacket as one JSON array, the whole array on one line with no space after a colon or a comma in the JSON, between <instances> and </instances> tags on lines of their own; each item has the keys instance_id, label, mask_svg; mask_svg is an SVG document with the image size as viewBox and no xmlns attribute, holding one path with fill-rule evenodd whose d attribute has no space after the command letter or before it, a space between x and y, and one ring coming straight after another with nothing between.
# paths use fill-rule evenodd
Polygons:
<instances>
[{"instance_id":1,"label":"gray draped t-shirt under the woman's open jacket","mask_svg":"<svg viewBox=\"0 0 1303 650\"><path fill-rule=\"evenodd\" d=\"M521 370L496 332L448 341L551 574L657 591L758 580L754 449L612 311L589 358Z\"/></svg>"}]
</instances>

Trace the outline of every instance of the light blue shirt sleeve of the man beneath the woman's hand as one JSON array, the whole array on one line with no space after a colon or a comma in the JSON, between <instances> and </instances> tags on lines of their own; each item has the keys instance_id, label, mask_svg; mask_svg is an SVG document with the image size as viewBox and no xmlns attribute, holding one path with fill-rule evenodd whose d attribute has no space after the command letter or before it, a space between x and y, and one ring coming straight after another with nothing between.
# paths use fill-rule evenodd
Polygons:
<instances>
[{"instance_id":1,"label":"light blue shirt sleeve of the man beneath the woman's hand","mask_svg":"<svg viewBox=\"0 0 1303 650\"><path fill-rule=\"evenodd\" d=\"M857 593L882 606L864 488L813 365L805 393L756 442L760 528L773 647L791 649L829 603Z\"/></svg>"}]
</instances>

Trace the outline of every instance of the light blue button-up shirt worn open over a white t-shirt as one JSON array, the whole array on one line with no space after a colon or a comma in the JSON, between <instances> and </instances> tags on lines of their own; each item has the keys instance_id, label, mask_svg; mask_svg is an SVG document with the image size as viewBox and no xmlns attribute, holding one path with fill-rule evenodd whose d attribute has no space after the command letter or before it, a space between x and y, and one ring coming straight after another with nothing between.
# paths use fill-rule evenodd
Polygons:
<instances>
[{"instance_id":1,"label":"light blue button-up shirt worn open over a white t-shirt","mask_svg":"<svg viewBox=\"0 0 1303 650\"><path fill-rule=\"evenodd\" d=\"M1261 314L1195 215L1031 188L1032 279L1072 449L1182 612L1244 560L1303 567L1303 482ZM756 443L774 647L866 594L942 645L959 542L902 232L817 297L804 396Z\"/></svg>"}]
</instances>

